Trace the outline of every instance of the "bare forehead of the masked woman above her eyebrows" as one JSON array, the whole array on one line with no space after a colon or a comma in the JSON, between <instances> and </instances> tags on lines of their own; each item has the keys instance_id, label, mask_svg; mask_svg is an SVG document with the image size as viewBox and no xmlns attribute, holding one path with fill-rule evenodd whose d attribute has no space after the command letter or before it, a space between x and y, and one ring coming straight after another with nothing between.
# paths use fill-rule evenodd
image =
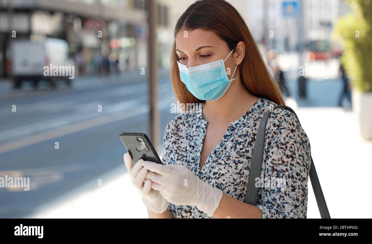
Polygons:
<instances>
[{"instance_id":1,"label":"bare forehead of the masked woman above her eyebrows","mask_svg":"<svg viewBox=\"0 0 372 244\"><path fill-rule=\"evenodd\" d=\"M192 50L202 45L221 46L223 40L214 32L203 29L185 30L180 29L176 34L176 48L181 51Z\"/></svg>"}]
</instances>

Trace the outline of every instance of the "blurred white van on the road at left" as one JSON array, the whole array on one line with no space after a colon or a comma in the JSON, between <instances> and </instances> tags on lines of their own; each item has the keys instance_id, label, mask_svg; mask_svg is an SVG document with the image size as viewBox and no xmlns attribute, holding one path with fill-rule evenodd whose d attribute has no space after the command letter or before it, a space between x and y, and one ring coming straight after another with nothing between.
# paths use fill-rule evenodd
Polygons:
<instances>
[{"instance_id":1,"label":"blurred white van on the road at left","mask_svg":"<svg viewBox=\"0 0 372 244\"><path fill-rule=\"evenodd\" d=\"M32 81L37 87L39 81L49 81L53 88L57 87L58 80L63 79L71 86L72 79L68 73L53 76L45 75L45 66L69 66L74 62L68 58L68 44L65 40L46 38L42 41L15 40L12 43L12 79L13 88L20 88L23 81Z\"/></svg>"}]
</instances>

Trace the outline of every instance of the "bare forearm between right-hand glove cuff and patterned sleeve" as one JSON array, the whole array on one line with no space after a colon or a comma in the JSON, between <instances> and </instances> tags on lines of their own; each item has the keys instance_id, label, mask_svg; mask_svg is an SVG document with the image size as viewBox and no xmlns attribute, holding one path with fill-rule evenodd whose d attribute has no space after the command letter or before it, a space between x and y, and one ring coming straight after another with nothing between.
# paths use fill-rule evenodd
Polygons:
<instances>
[{"instance_id":1,"label":"bare forearm between right-hand glove cuff and patterned sleeve","mask_svg":"<svg viewBox=\"0 0 372 244\"><path fill-rule=\"evenodd\" d=\"M214 211L215 218L262 218L262 212L257 206L246 204L225 193L222 193L221 201Z\"/></svg>"}]
</instances>

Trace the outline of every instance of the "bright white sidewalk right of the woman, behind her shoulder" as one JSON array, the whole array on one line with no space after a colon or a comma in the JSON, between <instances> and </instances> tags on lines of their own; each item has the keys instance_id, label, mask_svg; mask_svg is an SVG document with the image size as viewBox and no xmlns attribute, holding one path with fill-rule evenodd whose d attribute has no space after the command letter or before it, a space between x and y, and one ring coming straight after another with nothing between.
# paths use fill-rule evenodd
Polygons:
<instances>
[{"instance_id":1,"label":"bright white sidewalk right of the woman, behind her shoulder","mask_svg":"<svg viewBox=\"0 0 372 244\"><path fill-rule=\"evenodd\" d=\"M357 115L333 107L300 108L296 114L310 139L331 218L372 218L364 210L372 201L372 141L360 136ZM308 218L320 218L311 183L308 188Z\"/></svg>"}]
</instances>

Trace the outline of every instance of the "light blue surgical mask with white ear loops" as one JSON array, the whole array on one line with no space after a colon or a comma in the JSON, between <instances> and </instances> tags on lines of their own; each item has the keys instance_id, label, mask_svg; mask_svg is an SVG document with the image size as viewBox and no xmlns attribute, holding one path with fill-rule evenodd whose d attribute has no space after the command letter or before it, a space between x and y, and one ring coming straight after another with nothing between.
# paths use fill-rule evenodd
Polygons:
<instances>
[{"instance_id":1,"label":"light blue surgical mask with white ear loops","mask_svg":"<svg viewBox=\"0 0 372 244\"><path fill-rule=\"evenodd\" d=\"M231 50L227 58L231 55L232 51L234 51L234 49ZM231 79L228 79L225 69L226 59L220 59L190 68L187 68L186 65L180 64L180 62L177 61L181 81L186 85L187 90L196 98L205 101L218 100L225 94L231 81L234 80L232 77L234 77L235 70L238 66L235 66Z\"/></svg>"}]
</instances>

